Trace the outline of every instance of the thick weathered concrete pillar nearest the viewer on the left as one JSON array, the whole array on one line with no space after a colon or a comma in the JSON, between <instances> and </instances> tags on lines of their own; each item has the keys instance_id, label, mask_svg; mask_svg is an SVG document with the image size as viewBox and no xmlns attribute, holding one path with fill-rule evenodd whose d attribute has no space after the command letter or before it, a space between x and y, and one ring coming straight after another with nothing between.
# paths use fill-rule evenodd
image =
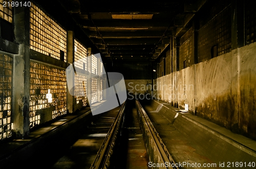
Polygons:
<instances>
[{"instance_id":1,"label":"thick weathered concrete pillar nearest the viewer on the left","mask_svg":"<svg viewBox=\"0 0 256 169\"><path fill-rule=\"evenodd\" d=\"M13 135L26 138L29 135L30 9L24 6L15 8L13 20L15 42L19 44L19 53L13 58Z\"/></svg>"}]
</instances>

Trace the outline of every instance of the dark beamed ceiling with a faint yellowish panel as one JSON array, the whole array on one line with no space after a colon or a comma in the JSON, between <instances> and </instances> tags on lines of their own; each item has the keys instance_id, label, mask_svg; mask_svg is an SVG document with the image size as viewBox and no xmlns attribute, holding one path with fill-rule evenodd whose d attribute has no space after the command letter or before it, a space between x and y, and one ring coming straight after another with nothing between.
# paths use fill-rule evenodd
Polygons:
<instances>
[{"instance_id":1,"label":"dark beamed ceiling with a faint yellowish panel","mask_svg":"<svg viewBox=\"0 0 256 169\"><path fill-rule=\"evenodd\" d=\"M189 21L205 1L139 4L58 0L55 5L61 6L65 11L61 15L72 18L105 58L155 60L168 46L171 36L181 36L188 30ZM43 2L40 5L49 7Z\"/></svg>"}]
</instances>

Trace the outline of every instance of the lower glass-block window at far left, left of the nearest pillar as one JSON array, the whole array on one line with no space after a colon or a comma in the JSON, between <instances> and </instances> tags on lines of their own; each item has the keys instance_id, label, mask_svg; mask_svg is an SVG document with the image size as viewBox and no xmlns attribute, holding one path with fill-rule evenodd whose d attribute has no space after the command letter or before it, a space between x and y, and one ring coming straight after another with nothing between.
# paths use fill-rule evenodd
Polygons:
<instances>
[{"instance_id":1,"label":"lower glass-block window at far left, left of the nearest pillar","mask_svg":"<svg viewBox=\"0 0 256 169\"><path fill-rule=\"evenodd\" d=\"M0 54L0 140L12 136L12 58Z\"/></svg>"}]
</instances>

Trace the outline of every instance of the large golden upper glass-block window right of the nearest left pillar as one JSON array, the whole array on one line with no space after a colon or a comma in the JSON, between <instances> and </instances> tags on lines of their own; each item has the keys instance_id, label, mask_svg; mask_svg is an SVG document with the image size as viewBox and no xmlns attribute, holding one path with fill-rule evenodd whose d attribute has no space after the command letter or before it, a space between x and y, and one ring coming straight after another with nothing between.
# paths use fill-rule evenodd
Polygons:
<instances>
[{"instance_id":1,"label":"large golden upper glass-block window right of the nearest left pillar","mask_svg":"<svg viewBox=\"0 0 256 169\"><path fill-rule=\"evenodd\" d=\"M67 32L33 3L30 7L30 49L67 61Z\"/></svg>"}]
</instances>

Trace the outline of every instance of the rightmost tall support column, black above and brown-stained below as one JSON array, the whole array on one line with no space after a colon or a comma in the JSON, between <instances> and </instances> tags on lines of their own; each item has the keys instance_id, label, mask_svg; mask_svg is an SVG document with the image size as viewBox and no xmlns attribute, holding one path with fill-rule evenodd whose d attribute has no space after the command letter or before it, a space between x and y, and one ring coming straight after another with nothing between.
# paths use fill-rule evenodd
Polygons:
<instances>
[{"instance_id":1,"label":"rightmost tall support column, black above and brown-stained below","mask_svg":"<svg viewBox=\"0 0 256 169\"><path fill-rule=\"evenodd\" d=\"M245 45L244 1L231 1L231 131L239 132L241 110L240 50Z\"/></svg>"}]
</instances>

